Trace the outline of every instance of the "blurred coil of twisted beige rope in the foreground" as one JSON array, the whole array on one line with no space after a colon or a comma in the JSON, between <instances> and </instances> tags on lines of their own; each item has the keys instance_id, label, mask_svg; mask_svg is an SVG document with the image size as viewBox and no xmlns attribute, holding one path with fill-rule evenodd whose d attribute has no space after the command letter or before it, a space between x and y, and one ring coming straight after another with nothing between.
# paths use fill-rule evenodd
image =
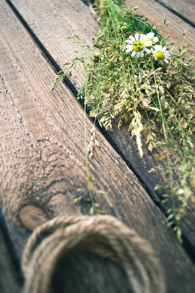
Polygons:
<instances>
[{"instance_id":1,"label":"blurred coil of twisted beige rope in the foreground","mask_svg":"<svg viewBox=\"0 0 195 293\"><path fill-rule=\"evenodd\" d=\"M98 259L106 260L106 264L110 266L114 264L115 267L122 270L128 281L129 290L125 291L124 288L123 291L123 288L121 288L120 292L165 292L163 271L149 243L116 218L98 215L56 217L34 230L22 257L22 268L26 277L24 293L62 292L56 291L54 288L52 283L54 275L57 270L61 270L59 263L75 248L80 248L81 252L88 251L96 255ZM77 250L72 255L76 257ZM82 259L81 262L84 262L84 260ZM64 261L64 267L68 263L67 260ZM80 265L82 266L82 264L77 263L74 266L75 270ZM96 271L96 263L90 262L90 266L92 266L92 269L90 269L92 275L92 271ZM76 278L75 275L69 274L67 276L67 272L69 274L68 267L66 268L66 275L63 276L63 282L66 278L68 280ZM103 271L96 272L96 274L95 277L100 274L102 279L111 278L109 275L105 275ZM87 281L89 282L89 280ZM114 280L111 279L107 283L114 288L115 282L114 277ZM63 292L69 293L70 291ZM78 290L78 292L83 291ZM85 290L84 292L91 293L92 290ZM115 291L111 288L107 291L102 288L101 291L93 292L113 293Z\"/></svg>"}]
</instances>

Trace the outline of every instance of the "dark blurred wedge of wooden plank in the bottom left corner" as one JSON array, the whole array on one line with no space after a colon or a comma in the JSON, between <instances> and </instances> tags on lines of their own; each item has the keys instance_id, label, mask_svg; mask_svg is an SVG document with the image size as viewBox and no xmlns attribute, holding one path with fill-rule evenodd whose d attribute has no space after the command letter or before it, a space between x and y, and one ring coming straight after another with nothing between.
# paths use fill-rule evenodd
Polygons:
<instances>
[{"instance_id":1,"label":"dark blurred wedge of wooden plank in the bottom left corner","mask_svg":"<svg viewBox=\"0 0 195 293\"><path fill-rule=\"evenodd\" d=\"M0 293L19 293L18 272L0 227Z\"/></svg>"}]
</instances>

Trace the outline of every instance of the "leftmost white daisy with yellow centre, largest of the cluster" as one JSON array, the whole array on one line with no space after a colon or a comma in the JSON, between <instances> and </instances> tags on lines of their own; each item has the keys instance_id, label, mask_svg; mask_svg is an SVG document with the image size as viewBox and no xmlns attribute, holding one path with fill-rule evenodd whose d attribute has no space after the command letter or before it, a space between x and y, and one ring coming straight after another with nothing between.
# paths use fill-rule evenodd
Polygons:
<instances>
[{"instance_id":1,"label":"leftmost white daisy with yellow centre, largest of the cluster","mask_svg":"<svg viewBox=\"0 0 195 293\"><path fill-rule=\"evenodd\" d=\"M138 34L135 34L134 36L129 36L130 40L126 40L125 42L129 43L129 45L126 46L126 52L132 52L132 57L143 57L143 52L148 52L149 50L146 47L152 46L152 41L148 41L146 35L141 34L140 36Z\"/></svg>"}]
</instances>

